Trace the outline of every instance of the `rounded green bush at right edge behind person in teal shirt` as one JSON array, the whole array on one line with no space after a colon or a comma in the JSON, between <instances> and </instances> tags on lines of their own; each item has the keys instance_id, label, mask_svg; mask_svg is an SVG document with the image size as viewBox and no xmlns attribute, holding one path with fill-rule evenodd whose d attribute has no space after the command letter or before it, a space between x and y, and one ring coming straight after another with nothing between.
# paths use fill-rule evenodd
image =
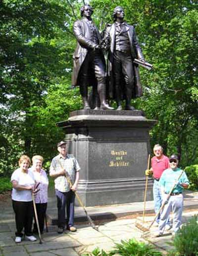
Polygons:
<instances>
[{"instance_id":1,"label":"rounded green bush at right edge behind person in teal shirt","mask_svg":"<svg viewBox=\"0 0 198 256\"><path fill-rule=\"evenodd\" d=\"M190 165L185 168L190 181L189 190L198 190L198 165Z\"/></svg>"}]
</instances>

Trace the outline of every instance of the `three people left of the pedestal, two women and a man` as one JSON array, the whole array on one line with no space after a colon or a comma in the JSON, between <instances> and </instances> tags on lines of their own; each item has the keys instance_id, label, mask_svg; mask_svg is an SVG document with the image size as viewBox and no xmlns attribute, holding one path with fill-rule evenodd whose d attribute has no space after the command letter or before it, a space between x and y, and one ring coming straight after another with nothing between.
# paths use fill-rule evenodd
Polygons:
<instances>
[{"instance_id":1,"label":"three people left of the pedestal, two women and a man","mask_svg":"<svg viewBox=\"0 0 198 256\"><path fill-rule=\"evenodd\" d=\"M74 227L74 200L75 191L79 180L79 164L73 155L67 154L65 141L57 144L59 154L55 156L50 165L49 175L54 178L55 194L58 208L58 233L65 229L65 208L67 211L66 228L71 232L76 231ZM42 169L43 157L35 155L32 158L32 167L27 155L19 159L19 168L11 176L12 183L12 207L15 213L16 238L20 243L23 236L30 241L36 241L34 234L42 234L48 205L49 180L46 172ZM70 186L68 180L72 186ZM36 215L33 210L33 197L35 199L38 215L39 230ZM34 225L32 229L34 218ZM24 234L22 233L24 229Z\"/></svg>"}]
</instances>

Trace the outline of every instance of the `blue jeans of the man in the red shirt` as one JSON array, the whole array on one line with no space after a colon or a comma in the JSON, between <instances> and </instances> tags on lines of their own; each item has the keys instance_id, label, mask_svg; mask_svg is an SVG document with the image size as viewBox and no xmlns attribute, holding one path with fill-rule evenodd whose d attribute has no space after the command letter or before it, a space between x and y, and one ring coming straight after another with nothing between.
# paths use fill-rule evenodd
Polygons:
<instances>
[{"instance_id":1,"label":"blue jeans of the man in the red shirt","mask_svg":"<svg viewBox=\"0 0 198 256\"><path fill-rule=\"evenodd\" d=\"M158 181L154 180L152 189L153 189L153 199L154 199L154 211L156 214L158 212L159 208L161 207L161 202L162 202L161 189L160 189ZM159 220L160 220L160 213L156 218L156 222L159 223ZM166 224L170 225L169 218L168 218Z\"/></svg>"}]
</instances>

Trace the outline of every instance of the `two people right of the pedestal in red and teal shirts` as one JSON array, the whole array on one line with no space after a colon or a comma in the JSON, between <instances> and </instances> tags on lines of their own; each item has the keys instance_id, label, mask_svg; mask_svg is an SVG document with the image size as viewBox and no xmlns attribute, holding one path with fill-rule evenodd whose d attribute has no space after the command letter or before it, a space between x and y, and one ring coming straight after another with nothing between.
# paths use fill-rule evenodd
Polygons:
<instances>
[{"instance_id":1,"label":"two people right of the pedestal in red and teal shirts","mask_svg":"<svg viewBox=\"0 0 198 256\"><path fill-rule=\"evenodd\" d=\"M154 211L157 214L164 202L164 208L156 218L158 226L155 237L162 236L164 230L172 228L175 236L182 224L183 211L183 190L189 186L186 173L178 167L178 156L173 154L169 158L163 154L163 148L159 144L153 147L154 156L151 159L151 168L145 174L153 177L153 199ZM175 185L175 186L174 186ZM172 190L172 191L171 191ZM171 193L170 193L171 192ZM168 194L170 197L168 198ZM173 212L172 224L170 222L170 212Z\"/></svg>"}]
</instances>

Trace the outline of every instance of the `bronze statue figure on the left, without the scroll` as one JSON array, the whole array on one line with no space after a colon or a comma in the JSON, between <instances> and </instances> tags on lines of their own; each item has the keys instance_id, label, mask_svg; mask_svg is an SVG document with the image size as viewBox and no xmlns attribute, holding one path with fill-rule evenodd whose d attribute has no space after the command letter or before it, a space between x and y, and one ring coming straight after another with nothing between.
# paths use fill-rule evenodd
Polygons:
<instances>
[{"instance_id":1,"label":"bronze statue figure on the left, without the scroll","mask_svg":"<svg viewBox=\"0 0 198 256\"><path fill-rule=\"evenodd\" d=\"M88 86L93 86L96 109L113 109L106 104L105 60L100 49L100 34L92 21L93 8L85 4L80 9L82 19L74 23L74 34L77 47L73 55L74 67L72 85L80 86L84 109L90 109L88 102ZM98 96L99 95L99 96Z\"/></svg>"}]
</instances>

